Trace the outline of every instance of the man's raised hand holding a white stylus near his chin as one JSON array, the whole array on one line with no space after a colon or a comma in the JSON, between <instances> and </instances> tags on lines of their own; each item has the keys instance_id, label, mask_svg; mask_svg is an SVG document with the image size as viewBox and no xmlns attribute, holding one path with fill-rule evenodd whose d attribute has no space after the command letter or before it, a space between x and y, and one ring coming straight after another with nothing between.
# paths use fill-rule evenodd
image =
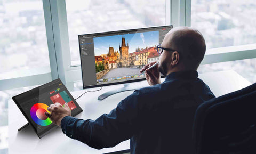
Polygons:
<instances>
[{"instance_id":1,"label":"man's raised hand holding a white stylus near his chin","mask_svg":"<svg viewBox=\"0 0 256 154\"><path fill-rule=\"evenodd\" d=\"M156 84L160 84L161 80L160 80L160 72L158 70L158 65L155 66L154 68L148 69L150 66L153 66L153 64L155 64L155 62L151 62L149 64L146 64L141 70L140 73L145 71L145 76L147 79L147 82L149 85L156 85Z\"/></svg>"}]
</instances>

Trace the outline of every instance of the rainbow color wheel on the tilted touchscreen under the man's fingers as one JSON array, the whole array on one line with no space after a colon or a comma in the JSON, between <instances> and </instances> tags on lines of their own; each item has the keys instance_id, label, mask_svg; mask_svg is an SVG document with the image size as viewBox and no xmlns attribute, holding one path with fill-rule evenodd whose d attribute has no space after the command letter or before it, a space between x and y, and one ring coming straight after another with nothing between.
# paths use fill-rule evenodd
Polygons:
<instances>
[{"instance_id":1,"label":"rainbow color wheel on the tilted touchscreen under the man's fingers","mask_svg":"<svg viewBox=\"0 0 256 154\"><path fill-rule=\"evenodd\" d=\"M47 126L52 123L50 118L44 115L44 112L49 112L47 107L49 106L44 103L36 103L31 107L30 116L38 125Z\"/></svg>"}]
</instances>

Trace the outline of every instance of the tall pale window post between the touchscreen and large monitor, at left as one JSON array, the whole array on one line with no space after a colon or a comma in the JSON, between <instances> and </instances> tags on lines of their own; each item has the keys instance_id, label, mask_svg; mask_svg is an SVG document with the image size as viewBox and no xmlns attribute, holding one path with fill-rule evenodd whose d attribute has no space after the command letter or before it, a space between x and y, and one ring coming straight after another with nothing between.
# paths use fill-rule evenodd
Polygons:
<instances>
[{"instance_id":1,"label":"tall pale window post between the touchscreen and large monitor, at left","mask_svg":"<svg viewBox=\"0 0 256 154\"><path fill-rule=\"evenodd\" d=\"M51 50L49 52L55 51L55 61L57 69L54 71L58 72L58 77L66 85L67 71L70 69L70 48L69 48L69 37L68 37L68 22L67 22L67 12L65 1L48 1L50 4L50 14L51 24L47 23L47 29L49 31L52 29L52 33L49 34L49 42L51 42ZM45 2L45 3L48 3ZM46 7L47 9L47 7ZM46 21L45 21L46 22ZM48 35L47 35L48 39Z\"/></svg>"}]
</instances>

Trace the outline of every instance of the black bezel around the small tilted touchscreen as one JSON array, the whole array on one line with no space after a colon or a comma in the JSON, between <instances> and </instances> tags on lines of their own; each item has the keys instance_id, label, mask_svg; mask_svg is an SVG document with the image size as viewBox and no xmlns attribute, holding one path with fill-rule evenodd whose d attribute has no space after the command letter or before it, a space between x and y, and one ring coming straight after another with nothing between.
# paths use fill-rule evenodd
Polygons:
<instances>
[{"instance_id":1,"label":"black bezel around the small tilted touchscreen","mask_svg":"<svg viewBox=\"0 0 256 154\"><path fill-rule=\"evenodd\" d=\"M55 79L55 80L52 80L51 82L55 82L56 80L59 80L59 81L61 82L60 78ZM36 88L40 88L40 87L42 87L42 86L44 86L44 85L47 85L47 84L49 84L49 83L51 83L51 82L48 82L48 83L46 83L46 84L43 84L43 85L38 86L38 87L35 87L35 88L33 88L33 89L29 90L29 91L23 92L23 93L21 93L21 94L18 94L18 95L15 95L15 96L12 97L12 100L13 100L14 103L18 106L18 108L19 108L20 111L22 112L23 116L27 119L29 125L31 125L31 127L34 129L34 131L36 132L36 135L39 137L39 139L41 139L43 136L45 136L46 134L48 134L48 133L50 133L51 131L53 131L54 128L58 128L58 126L57 126L57 125L52 126L52 127L50 127L49 129L46 129L45 131L43 131L42 133L38 133L36 127L33 125L33 123L31 122L31 120L28 118L26 112L21 108L21 106L20 106L20 104L19 104L19 102L17 101L16 98L17 98L17 96L20 96L20 95L22 95L22 94L25 94L25 93L28 93L28 92L31 92L31 91L35 91ZM62 82L61 82L61 83L62 83ZM62 83L62 84L63 84L63 83ZM63 85L64 85L64 84L63 84ZM65 86L65 85L64 85L64 86ZM66 86L65 86L65 87L66 87ZM67 87L66 87L66 88L67 88ZM69 92L68 92L68 93L69 93ZM72 99L72 101L74 101L75 103L77 103L76 100L73 98L73 96L72 96L71 94L70 94L70 98ZM78 103L77 103L77 104L78 104ZM81 112L83 112L83 109L79 106L79 104L78 104L78 107L79 107L81 110L78 110L76 114L74 114L74 112L73 112L73 113L71 112L71 116L77 116L78 114L80 114Z\"/></svg>"}]
</instances>

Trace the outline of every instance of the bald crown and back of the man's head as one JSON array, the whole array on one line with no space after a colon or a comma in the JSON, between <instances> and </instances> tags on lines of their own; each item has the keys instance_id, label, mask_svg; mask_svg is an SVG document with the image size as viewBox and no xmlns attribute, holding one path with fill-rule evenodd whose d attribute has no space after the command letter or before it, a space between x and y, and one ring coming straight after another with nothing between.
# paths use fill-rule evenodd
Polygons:
<instances>
[{"instance_id":1,"label":"bald crown and back of the man's head","mask_svg":"<svg viewBox=\"0 0 256 154\"><path fill-rule=\"evenodd\" d=\"M198 30L191 27L173 28L165 39L165 45L180 54L180 62L186 67L198 68L206 49L204 37Z\"/></svg>"}]
</instances>

